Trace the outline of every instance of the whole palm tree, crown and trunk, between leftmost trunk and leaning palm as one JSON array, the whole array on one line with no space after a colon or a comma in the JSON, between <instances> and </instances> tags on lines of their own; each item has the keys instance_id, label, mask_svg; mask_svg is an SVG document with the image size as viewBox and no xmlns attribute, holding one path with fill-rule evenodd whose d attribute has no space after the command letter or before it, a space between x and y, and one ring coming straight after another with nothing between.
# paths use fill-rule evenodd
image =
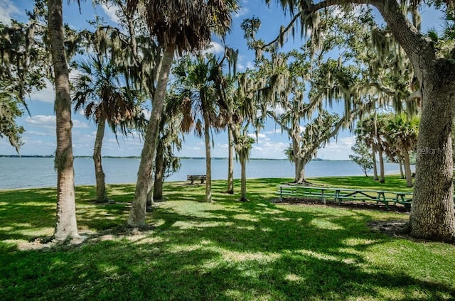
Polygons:
<instances>
[{"instance_id":1,"label":"whole palm tree, crown and trunk, between leftmost trunk and leaning palm","mask_svg":"<svg viewBox=\"0 0 455 301\"><path fill-rule=\"evenodd\" d=\"M105 173L102 170L101 148L106 124L115 133L120 131L127 136L129 128L140 129L144 114L137 104L137 92L122 87L121 75L116 66L107 58L90 56L75 64L78 75L73 80L75 111L84 109L85 117L92 118L97 124L93 162L97 182L96 202L107 202ZM142 116L142 118L141 118Z\"/></svg>"}]
</instances>

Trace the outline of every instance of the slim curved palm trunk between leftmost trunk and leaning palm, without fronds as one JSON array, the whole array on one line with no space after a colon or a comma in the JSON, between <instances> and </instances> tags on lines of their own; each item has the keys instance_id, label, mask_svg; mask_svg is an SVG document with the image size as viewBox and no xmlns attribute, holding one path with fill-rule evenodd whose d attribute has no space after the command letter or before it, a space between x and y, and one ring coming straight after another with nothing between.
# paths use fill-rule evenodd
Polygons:
<instances>
[{"instance_id":1,"label":"slim curved palm trunk between leftmost trunk and leaning palm, without fronds","mask_svg":"<svg viewBox=\"0 0 455 301\"><path fill-rule=\"evenodd\" d=\"M107 192L105 183L105 173L102 170L101 148L102 140L105 138L106 119L98 121L97 136L95 147L93 148L93 163L95 163L95 179L97 182L97 203L107 202Z\"/></svg>"}]
</instances>

